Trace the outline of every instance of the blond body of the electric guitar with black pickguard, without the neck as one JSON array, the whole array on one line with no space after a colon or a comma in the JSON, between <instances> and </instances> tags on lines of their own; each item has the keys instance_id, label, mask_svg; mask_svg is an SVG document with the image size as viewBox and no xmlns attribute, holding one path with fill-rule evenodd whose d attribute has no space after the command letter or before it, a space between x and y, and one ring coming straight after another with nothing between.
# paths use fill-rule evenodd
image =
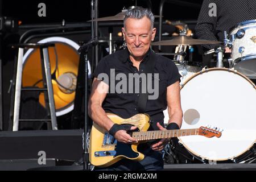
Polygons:
<instances>
[{"instance_id":1,"label":"blond body of the electric guitar with black pickguard, without the neck","mask_svg":"<svg viewBox=\"0 0 256 182\"><path fill-rule=\"evenodd\" d=\"M136 114L128 119L110 113L107 115L114 123L137 126L139 131L147 131L150 126L150 118L146 114ZM135 161L142 160L144 155L137 151L138 144L118 142L106 130L93 123L89 143L90 163L97 167L108 167L123 158Z\"/></svg>"}]
</instances>

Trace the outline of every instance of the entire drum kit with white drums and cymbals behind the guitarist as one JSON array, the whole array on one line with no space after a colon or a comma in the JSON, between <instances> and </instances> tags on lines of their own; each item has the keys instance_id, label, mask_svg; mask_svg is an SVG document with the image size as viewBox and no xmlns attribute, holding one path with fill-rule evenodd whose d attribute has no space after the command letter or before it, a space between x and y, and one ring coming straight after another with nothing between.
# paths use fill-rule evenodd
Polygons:
<instances>
[{"instance_id":1,"label":"entire drum kit with white drums and cymbals behind the guitarist","mask_svg":"<svg viewBox=\"0 0 256 182\"><path fill-rule=\"evenodd\" d=\"M124 13L96 20L123 20ZM232 48L230 67L223 66L222 47L205 53L216 53L216 68L202 69L184 61L181 53L188 46L203 44L224 44ZM225 34L224 43L180 34L170 40L152 42L151 46L177 46L174 61L182 76L180 94L184 113L181 129L213 125L224 130L220 138L214 139L179 137L184 150L202 163L256 162L256 87L250 80L256 78L256 20L238 24L230 31L229 38ZM167 123L167 110L164 115ZM168 154L174 154L172 150L175 149L169 146Z\"/></svg>"}]
</instances>

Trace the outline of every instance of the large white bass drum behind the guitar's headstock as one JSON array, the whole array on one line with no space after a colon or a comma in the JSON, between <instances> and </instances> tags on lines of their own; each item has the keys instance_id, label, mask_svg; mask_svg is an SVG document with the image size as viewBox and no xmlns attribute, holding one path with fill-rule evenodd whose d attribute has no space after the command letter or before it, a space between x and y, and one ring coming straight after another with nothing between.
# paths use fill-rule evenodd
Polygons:
<instances>
[{"instance_id":1,"label":"large white bass drum behind the guitar's headstock","mask_svg":"<svg viewBox=\"0 0 256 182\"><path fill-rule=\"evenodd\" d=\"M210 125L224 130L220 138L179 137L189 153L202 162L240 162L250 156L256 139L253 82L232 69L211 68L189 78L180 94L181 129ZM164 113L168 122L168 113Z\"/></svg>"}]
</instances>

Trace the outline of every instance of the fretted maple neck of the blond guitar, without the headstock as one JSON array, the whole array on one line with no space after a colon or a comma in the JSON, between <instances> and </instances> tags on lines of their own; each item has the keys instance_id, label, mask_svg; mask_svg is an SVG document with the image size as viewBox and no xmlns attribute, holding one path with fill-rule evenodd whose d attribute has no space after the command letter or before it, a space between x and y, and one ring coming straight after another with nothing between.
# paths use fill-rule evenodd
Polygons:
<instances>
[{"instance_id":1,"label":"fretted maple neck of the blond guitar, without the headstock","mask_svg":"<svg viewBox=\"0 0 256 182\"><path fill-rule=\"evenodd\" d=\"M154 140L162 138L173 138L173 137L183 137L189 135L198 135L199 129L188 129L188 130L159 130L159 131L139 131L133 132L132 137L138 141L143 140Z\"/></svg>"}]
</instances>

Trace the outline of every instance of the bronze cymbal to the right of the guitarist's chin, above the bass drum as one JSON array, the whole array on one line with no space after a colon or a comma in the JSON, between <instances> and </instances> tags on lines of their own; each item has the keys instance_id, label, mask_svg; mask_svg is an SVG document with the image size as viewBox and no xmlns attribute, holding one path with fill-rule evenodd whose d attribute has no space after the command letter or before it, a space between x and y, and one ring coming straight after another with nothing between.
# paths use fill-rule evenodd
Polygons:
<instances>
[{"instance_id":1,"label":"bronze cymbal to the right of the guitarist's chin, above the bass drum","mask_svg":"<svg viewBox=\"0 0 256 182\"><path fill-rule=\"evenodd\" d=\"M177 45L201 45L201 44L221 44L220 41L193 39L189 36L177 36L170 40L162 40L159 42L152 42L152 46L177 46Z\"/></svg>"}]
</instances>

